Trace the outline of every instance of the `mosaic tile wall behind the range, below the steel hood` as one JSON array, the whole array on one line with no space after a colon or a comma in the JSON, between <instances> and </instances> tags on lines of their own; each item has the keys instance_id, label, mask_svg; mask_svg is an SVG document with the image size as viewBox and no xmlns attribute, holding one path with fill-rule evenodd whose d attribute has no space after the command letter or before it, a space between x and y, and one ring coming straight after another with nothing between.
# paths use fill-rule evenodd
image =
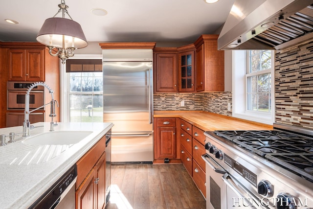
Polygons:
<instances>
[{"instance_id":1,"label":"mosaic tile wall behind the range, below the steel hood","mask_svg":"<svg viewBox=\"0 0 313 209\"><path fill-rule=\"evenodd\" d=\"M313 128L313 42L275 54L275 119Z\"/></svg>"}]
</instances>

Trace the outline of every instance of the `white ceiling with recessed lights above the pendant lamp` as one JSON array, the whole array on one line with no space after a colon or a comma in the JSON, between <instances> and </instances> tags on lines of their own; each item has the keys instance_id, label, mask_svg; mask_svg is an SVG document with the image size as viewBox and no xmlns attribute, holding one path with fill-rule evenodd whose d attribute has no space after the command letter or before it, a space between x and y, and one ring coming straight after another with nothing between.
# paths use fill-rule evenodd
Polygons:
<instances>
[{"instance_id":1,"label":"white ceiling with recessed lights above the pendant lamp","mask_svg":"<svg viewBox=\"0 0 313 209\"><path fill-rule=\"evenodd\" d=\"M193 43L213 34L226 21L234 0L208 4L204 0L65 0L72 19L81 24L87 41ZM45 19L53 17L61 0L1 0L0 41L35 42ZM106 16L90 10L102 8ZM58 14L56 17L61 17ZM66 16L66 18L68 18ZM18 21L6 23L4 19ZM166 44L165 44L166 45ZM178 44L179 45L179 44ZM91 45L90 45L91 46Z\"/></svg>"}]
</instances>

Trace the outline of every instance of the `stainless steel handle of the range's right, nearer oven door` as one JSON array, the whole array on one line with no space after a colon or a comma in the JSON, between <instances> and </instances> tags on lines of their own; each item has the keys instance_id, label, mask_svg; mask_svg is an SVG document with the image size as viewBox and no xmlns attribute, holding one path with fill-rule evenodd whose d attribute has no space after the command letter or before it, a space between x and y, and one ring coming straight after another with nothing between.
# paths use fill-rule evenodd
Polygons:
<instances>
[{"instance_id":1,"label":"stainless steel handle of the range's right, nearer oven door","mask_svg":"<svg viewBox=\"0 0 313 209\"><path fill-rule=\"evenodd\" d=\"M244 188L244 186L241 186L241 184L235 180L233 180L231 178L231 176L227 173L222 177L224 183L230 187L231 190L233 190L238 197L240 198L245 198L247 200L252 199L255 203L257 204L253 204L253 206L256 207L256 209L262 209L259 208L258 205L262 205L262 203L260 203L259 199L257 197L255 197L250 191L248 191L246 188ZM248 204L252 204L252 203L248 203ZM262 205L263 208L267 208L265 206Z\"/></svg>"}]
</instances>

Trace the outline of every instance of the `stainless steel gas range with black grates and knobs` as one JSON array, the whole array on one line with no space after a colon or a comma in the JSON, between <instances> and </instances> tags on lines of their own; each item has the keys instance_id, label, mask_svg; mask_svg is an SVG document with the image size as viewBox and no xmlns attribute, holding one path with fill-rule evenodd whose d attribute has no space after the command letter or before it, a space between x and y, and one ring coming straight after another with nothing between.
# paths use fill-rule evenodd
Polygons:
<instances>
[{"instance_id":1,"label":"stainless steel gas range with black grates and knobs","mask_svg":"<svg viewBox=\"0 0 313 209\"><path fill-rule=\"evenodd\" d=\"M205 132L207 209L313 209L313 130Z\"/></svg>"}]
</instances>

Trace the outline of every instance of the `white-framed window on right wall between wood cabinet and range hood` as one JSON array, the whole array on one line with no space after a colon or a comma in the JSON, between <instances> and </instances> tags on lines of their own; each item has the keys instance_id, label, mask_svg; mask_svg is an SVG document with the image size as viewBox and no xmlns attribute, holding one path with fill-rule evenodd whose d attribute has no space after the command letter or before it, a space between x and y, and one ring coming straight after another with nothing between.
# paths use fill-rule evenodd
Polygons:
<instances>
[{"instance_id":1,"label":"white-framed window on right wall between wood cabinet and range hood","mask_svg":"<svg viewBox=\"0 0 313 209\"><path fill-rule=\"evenodd\" d=\"M233 116L273 123L273 63L270 50L233 51Z\"/></svg>"}]
</instances>

